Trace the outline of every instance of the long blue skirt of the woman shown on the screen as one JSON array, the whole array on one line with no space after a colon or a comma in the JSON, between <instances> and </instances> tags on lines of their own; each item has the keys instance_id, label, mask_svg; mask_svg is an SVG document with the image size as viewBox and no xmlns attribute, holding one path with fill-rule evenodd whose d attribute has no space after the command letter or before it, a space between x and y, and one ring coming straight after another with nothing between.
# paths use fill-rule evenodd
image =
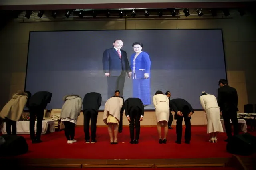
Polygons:
<instances>
[{"instance_id":1,"label":"long blue skirt of the woman shown on the screen","mask_svg":"<svg viewBox=\"0 0 256 170\"><path fill-rule=\"evenodd\" d=\"M150 105L150 78L133 79L133 97L141 99L143 105Z\"/></svg>"}]
</instances>

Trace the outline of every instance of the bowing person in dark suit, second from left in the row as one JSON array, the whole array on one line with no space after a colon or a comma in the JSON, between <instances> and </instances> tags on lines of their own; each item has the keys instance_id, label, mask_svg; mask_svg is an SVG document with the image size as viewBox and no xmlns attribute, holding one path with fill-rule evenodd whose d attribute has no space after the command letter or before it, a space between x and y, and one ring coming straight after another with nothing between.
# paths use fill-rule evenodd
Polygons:
<instances>
[{"instance_id":1,"label":"bowing person in dark suit, second from left in the row","mask_svg":"<svg viewBox=\"0 0 256 170\"><path fill-rule=\"evenodd\" d=\"M28 109L29 109L29 132L32 143L40 143L42 133L42 121L44 118L44 110L52 99L52 93L48 91L38 91L31 96ZM37 119L37 120L36 120ZM36 123L36 136L35 136L35 122Z\"/></svg>"}]
</instances>

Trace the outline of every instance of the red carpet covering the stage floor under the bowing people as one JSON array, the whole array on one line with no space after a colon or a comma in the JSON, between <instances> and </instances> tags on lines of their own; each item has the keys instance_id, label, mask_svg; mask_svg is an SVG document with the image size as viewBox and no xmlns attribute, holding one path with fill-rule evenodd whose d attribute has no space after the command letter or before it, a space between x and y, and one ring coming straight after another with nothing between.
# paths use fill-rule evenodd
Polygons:
<instances>
[{"instance_id":1,"label":"red carpet covering the stage floor under the bowing people","mask_svg":"<svg viewBox=\"0 0 256 170\"><path fill-rule=\"evenodd\" d=\"M183 128L184 131L184 128ZM184 135L184 132L183 132ZM129 128L118 134L118 144L111 145L107 127L97 128L97 143L84 142L83 127L76 127L77 143L67 144L64 131L42 135L42 143L32 144L29 135L24 135L29 145L27 154L21 158L72 158L72 159L170 159L170 158L224 158L226 134L218 136L217 143L208 142L206 127L192 127L191 143L176 144L175 128L169 130L167 144L159 144L156 127L141 127L139 144L130 144Z\"/></svg>"}]
</instances>

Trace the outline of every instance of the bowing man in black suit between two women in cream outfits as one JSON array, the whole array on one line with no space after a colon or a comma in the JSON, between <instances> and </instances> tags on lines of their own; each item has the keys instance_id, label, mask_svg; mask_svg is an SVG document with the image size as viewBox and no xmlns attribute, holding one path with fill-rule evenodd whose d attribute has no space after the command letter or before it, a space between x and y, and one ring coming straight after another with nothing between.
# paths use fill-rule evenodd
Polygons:
<instances>
[{"instance_id":1,"label":"bowing man in black suit between two women in cream outfits","mask_svg":"<svg viewBox=\"0 0 256 170\"><path fill-rule=\"evenodd\" d=\"M182 137L182 121L184 117L186 129L185 129L185 143L189 144L191 140L191 115L194 113L194 109L185 99L172 99L171 109L175 111L174 119L176 122L176 134L177 134L177 144L181 144Z\"/></svg>"}]
</instances>

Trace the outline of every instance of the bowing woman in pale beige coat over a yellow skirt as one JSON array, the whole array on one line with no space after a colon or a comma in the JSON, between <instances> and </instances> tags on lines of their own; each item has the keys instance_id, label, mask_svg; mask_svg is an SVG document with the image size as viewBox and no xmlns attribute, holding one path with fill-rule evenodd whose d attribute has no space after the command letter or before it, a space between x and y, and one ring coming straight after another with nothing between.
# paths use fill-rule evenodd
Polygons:
<instances>
[{"instance_id":1,"label":"bowing woman in pale beige coat over a yellow skirt","mask_svg":"<svg viewBox=\"0 0 256 170\"><path fill-rule=\"evenodd\" d=\"M121 97L111 97L105 103L103 122L108 125L107 130L109 132L110 144L117 144L118 124L123 104ZM114 128L114 139L112 128Z\"/></svg>"}]
</instances>

